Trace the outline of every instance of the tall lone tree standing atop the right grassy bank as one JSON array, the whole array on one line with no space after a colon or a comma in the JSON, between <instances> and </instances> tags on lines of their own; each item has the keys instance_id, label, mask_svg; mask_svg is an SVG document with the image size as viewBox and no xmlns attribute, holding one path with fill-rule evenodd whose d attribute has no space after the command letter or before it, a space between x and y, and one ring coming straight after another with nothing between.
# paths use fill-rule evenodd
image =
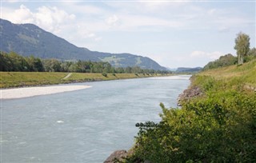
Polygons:
<instances>
[{"instance_id":1,"label":"tall lone tree standing atop the right grassy bank","mask_svg":"<svg viewBox=\"0 0 256 163\"><path fill-rule=\"evenodd\" d=\"M237 50L238 54L238 65L243 64L243 58L248 54L250 50L250 37L247 34L243 34L242 32L237 34L237 38L235 38L235 46L234 49Z\"/></svg>"}]
</instances>

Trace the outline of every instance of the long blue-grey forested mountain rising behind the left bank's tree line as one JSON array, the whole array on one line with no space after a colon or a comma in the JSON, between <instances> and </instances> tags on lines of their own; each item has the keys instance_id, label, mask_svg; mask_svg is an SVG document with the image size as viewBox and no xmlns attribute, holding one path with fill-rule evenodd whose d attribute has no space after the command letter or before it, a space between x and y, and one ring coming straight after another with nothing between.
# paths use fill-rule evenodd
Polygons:
<instances>
[{"instance_id":1,"label":"long blue-grey forested mountain rising behind the left bank's tree line","mask_svg":"<svg viewBox=\"0 0 256 163\"><path fill-rule=\"evenodd\" d=\"M0 19L1 51L14 51L23 56L110 62L115 67L139 66L142 69L166 70L154 60L134 54L110 54L74 46L63 38L34 24L14 24Z\"/></svg>"}]
</instances>

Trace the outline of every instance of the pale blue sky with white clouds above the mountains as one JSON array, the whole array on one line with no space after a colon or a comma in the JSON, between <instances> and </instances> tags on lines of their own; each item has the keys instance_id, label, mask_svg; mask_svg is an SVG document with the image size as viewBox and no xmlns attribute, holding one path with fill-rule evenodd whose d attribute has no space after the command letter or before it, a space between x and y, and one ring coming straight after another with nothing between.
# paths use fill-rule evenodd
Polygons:
<instances>
[{"instance_id":1,"label":"pale blue sky with white clouds above the mountains","mask_svg":"<svg viewBox=\"0 0 256 163\"><path fill-rule=\"evenodd\" d=\"M256 40L256 1L1 1L1 18L33 23L78 47L154 59L169 68L236 55L239 32Z\"/></svg>"}]
</instances>

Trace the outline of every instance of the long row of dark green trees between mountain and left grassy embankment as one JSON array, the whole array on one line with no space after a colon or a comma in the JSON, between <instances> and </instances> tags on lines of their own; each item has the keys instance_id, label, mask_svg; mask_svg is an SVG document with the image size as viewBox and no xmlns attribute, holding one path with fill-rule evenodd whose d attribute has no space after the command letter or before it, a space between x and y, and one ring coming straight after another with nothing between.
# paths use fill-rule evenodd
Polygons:
<instances>
[{"instance_id":1,"label":"long row of dark green trees between mountain and left grassy embankment","mask_svg":"<svg viewBox=\"0 0 256 163\"><path fill-rule=\"evenodd\" d=\"M76 73L117 73L117 74L167 74L167 70L145 70L138 66L114 67L109 62L60 61L34 56L23 57L15 52L0 52L0 71L23 72L76 72Z\"/></svg>"}]
</instances>

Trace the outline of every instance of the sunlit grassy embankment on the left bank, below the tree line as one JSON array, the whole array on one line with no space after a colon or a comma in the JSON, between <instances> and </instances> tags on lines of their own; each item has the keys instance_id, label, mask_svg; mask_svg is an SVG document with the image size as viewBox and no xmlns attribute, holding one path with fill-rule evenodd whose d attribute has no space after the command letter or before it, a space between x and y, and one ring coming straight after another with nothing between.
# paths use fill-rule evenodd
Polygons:
<instances>
[{"instance_id":1,"label":"sunlit grassy embankment on the left bank, below the tree line","mask_svg":"<svg viewBox=\"0 0 256 163\"><path fill-rule=\"evenodd\" d=\"M162 76L162 74L107 74L107 77L104 77L102 74L72 73L70 78L63 79L68 74L69 73L0 72L0 88Z\"/></svg>"}]
</instances>

